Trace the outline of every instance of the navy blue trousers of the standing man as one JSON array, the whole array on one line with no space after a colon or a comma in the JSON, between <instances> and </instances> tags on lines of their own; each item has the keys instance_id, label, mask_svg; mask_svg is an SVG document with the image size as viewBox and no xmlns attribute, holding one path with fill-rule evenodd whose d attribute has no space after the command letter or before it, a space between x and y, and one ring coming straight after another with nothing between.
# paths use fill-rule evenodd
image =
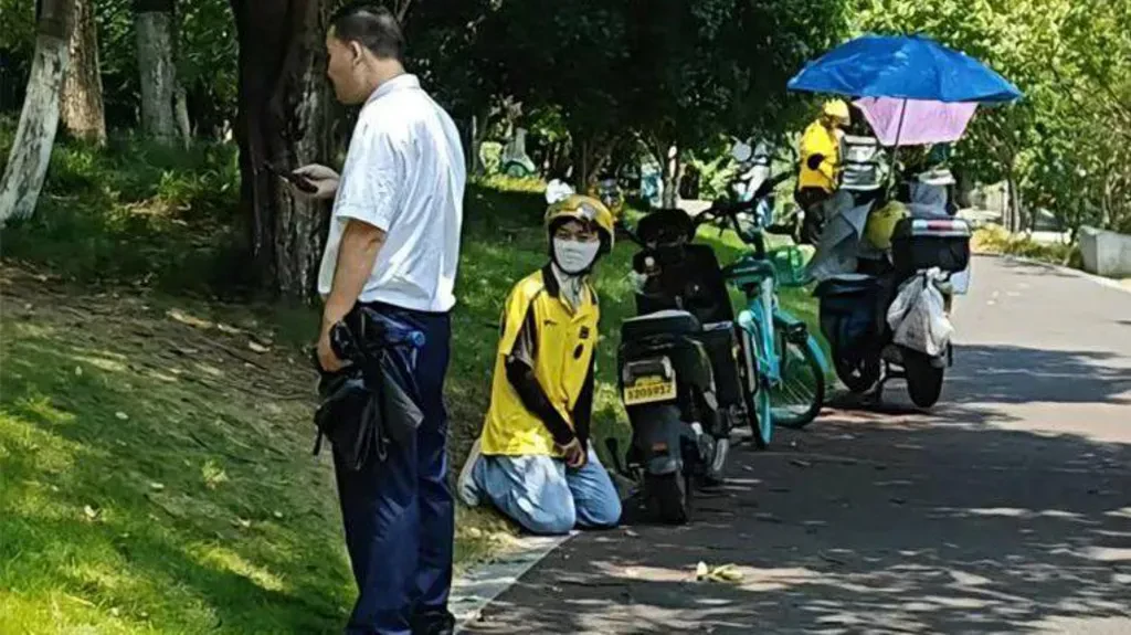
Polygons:
<instances>
[{"instance_id":1,"label":"navy blue trousers of the standing man","mask_svg":"<svg viewBox=\"0 0 1131 635\"><path fill-rule=\"evenodd\" d=\"M447 314L378 308L387 319L424 333L422 349L396 354L416 381L424 420L414 443L390 443L385 461L373 458L360 471L344 468L335 453L346 546L359 592L346 628L349 635L408 634L411 624L422 617L447 615L451 588L455 507L447 482L443 407L451 322Z\"/></svg>"}]
</instances>

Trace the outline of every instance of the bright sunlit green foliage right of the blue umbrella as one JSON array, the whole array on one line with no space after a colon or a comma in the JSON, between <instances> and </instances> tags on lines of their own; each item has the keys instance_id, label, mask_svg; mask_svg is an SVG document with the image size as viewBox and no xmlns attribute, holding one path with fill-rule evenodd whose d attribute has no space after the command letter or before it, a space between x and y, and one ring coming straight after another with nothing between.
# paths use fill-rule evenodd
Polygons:
<instances>
[{"instance_id":1,"label":"bright sunlit green foliage right of the blue umbrella","mask_svg":"<svg viewBox=\"0 0 1131 635\"><path fill-rule=\"evenodd\" d=\"M1025 92L983 108L958 148L983 181L1011 177L1026 208L1131 230L1131 3L858 0L861 31L925 32Z\"/></svg>"}]
</instances>

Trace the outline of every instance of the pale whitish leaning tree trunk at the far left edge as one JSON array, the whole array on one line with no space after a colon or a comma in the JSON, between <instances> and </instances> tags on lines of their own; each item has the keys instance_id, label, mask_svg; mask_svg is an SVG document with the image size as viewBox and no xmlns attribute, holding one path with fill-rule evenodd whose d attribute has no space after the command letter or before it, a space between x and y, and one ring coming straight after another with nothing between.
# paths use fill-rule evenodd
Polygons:
<instances>
[{"instance_id":1,"label":"pale whitish leaning tree trunk at the far left edge","mask_svg":"<svg viewBox=\"0 0 1131 635\"><path fill-rule=\"evenodd\" d=\"M72 0L43 0L40 6L24 110L0 181L0 226L8 218L28 218L35 211L59 128L59 95L67 72L72 9Z\"/></svg>"}]
</instances>

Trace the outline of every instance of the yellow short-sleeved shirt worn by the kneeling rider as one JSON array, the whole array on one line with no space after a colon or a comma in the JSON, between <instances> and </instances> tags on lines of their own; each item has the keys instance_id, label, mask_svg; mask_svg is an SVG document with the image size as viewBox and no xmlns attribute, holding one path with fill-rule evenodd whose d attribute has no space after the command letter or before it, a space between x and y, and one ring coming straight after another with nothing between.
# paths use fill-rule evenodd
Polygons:
<instances>
[{"instance_id":1,"label":"yellow short-sleeved shirt worn by the kneeling rider","mask_svg":"<svg viewBox=\"0 0 1131 635\"><path fill-rule=\"evenodd\" d=\"M523 405L507 379L507 357L515 351L520 333L533 339L534 376L576 432L573 406L590 369L599 316L593 287L585 285L578 306L571 308L561 299L558 279L549 267L515 285L501 319L491 406L483 425L484 454L561 456L546 425Z\"/></svg>"}]
</instances>

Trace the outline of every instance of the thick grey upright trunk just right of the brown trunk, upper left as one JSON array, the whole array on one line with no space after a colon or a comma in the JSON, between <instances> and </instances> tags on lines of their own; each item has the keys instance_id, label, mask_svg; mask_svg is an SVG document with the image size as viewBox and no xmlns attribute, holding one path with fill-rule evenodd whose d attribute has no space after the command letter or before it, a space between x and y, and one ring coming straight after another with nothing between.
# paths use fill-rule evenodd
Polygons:
<instances>
[{"instance_id":1,"label":"thick grey upright trunk just right of the brown trunk, upper left","mask_svg":"<svg viewBox=\"0 0 1131 635\"><path fill-rule=\"evenodd\" d=\"M173 101L173 0L137 0L138 70L141 75L141 128L163 143L176 139Z\"/></svg>"}]
</instances>

